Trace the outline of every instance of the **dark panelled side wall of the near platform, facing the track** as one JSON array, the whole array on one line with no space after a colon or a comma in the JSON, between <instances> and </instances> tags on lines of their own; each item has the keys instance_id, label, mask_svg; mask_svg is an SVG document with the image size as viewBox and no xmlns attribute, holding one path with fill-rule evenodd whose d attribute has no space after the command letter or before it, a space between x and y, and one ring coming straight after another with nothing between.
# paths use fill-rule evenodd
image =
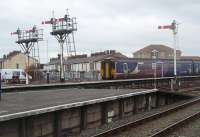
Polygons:
<instances>
[{"instance_id":1,"label":"dark panelled side wall of the near platform, facing the track","mask_svg":"<svg viewBox=\"0 0 200 137\"><path fill-rule=\"evenodd\" d=\"M175 95L148 93L0 122L0 137L64 137L171 104ZM178 101L176 100L176 101Z\"/></svg>"}]
</instances>

